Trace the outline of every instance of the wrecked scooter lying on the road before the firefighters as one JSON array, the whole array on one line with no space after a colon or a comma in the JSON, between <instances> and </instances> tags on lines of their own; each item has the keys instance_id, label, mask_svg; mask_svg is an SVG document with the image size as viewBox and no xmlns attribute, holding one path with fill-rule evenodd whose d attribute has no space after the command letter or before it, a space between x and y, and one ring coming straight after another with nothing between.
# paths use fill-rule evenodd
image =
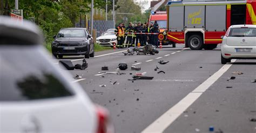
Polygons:
<instances>
[{"instance_id":1,"label":"wrecked scooter lying on the road before the firefighters","mask_svg":"<svg viewBox=\"0 0 256 133\"><path fill-rule=\"evenodd\" d=\"M159 51L157 50L156 46L148 44L142 47L130 47L127 49L127 53L123 52L124 55L134 55L135 53L137 53L137 55L154 55L158 54Z\"/></svg>"}]
</instances>

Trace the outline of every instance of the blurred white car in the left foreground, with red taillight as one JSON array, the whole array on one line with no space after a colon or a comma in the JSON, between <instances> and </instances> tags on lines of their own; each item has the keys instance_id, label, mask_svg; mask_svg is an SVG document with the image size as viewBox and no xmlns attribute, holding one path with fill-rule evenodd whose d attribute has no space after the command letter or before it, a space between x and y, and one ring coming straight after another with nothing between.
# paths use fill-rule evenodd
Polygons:
<instances>
[{"instance_id":1,"label":"blurred white car in the left foreground, with red taillight","mask_svg":"<svg viewBox=\"0 0 256 133\"><path fill-rule=\"evenodd\" d=\"M51 62L38 27L0 16L0 29L0 132L113 131L107 110Z\"/></svg>"}]
</instances>

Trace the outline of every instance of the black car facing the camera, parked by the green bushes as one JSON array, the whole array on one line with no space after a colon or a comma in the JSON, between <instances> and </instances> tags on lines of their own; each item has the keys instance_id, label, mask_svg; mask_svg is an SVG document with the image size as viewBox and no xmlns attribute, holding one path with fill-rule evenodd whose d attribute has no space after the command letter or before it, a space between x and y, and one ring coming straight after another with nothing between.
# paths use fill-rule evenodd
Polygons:
<instances>
[{"instance_id":1,"label":"black car facing the camera, parked by the green bushes","mask_svg":"<svg viewBox=\"0 0 256 133\"><path fill-rule=\"evenodd\" d=\"M86 28L62 28L53 36L52 55L62 58L63 55L84 55L94 57L93 38Z\"/></svg>"}]
</instances>

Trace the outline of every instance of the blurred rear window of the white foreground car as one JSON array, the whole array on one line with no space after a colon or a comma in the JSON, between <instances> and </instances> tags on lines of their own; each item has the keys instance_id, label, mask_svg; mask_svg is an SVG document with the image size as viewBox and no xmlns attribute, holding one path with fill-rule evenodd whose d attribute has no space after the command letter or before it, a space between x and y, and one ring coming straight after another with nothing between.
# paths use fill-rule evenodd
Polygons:
<instances>
[{"instance_id":1,"label":"blurred rear window of the white foreground car","mask_svg":"<svg viewBox=\"0 0 256 133\"><path fill-rule=\"evenodd\" d=\"M42 55L42 47L0 48L0 101L24 101L73 95L65 79Z\"/></svg>"}]
</instances>

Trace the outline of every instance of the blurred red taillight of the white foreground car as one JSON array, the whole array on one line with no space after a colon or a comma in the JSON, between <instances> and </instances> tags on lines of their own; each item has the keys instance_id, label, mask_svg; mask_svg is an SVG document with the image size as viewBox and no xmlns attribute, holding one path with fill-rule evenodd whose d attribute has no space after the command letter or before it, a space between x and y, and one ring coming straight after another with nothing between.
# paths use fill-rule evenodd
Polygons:
<instances>
[{"instance_id":1,"label":"blurred red taillight of the white foreground car","mask_svg":"<svg viewBox=\"0 0 256 133\"><path fill-rule=\"evenodd\" d=\"M98 115L97 133L114 133L113 124L109 119L109 112L99 105L96 105L96 112Z\"/></svg>"}]
</instances>

